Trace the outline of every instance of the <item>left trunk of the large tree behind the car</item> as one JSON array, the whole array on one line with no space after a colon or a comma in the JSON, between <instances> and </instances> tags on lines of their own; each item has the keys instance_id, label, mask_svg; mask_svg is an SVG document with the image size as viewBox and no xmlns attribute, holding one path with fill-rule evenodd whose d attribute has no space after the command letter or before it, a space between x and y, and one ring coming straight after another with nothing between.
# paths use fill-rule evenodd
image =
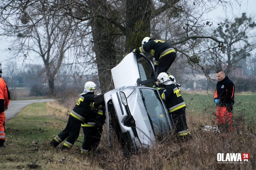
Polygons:
<instances>
[{"instance_id":1,"label":"left trunk of the large tree behind the car","mask_svg":"<svg viewBox=\"0 0 256 170\"><path fill-rule=\"evenodd\" d=\"M107 15L104 4L106 0L92 0L93 13ZM93 50L96 54L96 64L101 92L107 92L114 88L111 69L114 67L115 48L111 40L111 25L104 19L94 18L91 22L93 34Z\"/></svg>"}]
</instances>

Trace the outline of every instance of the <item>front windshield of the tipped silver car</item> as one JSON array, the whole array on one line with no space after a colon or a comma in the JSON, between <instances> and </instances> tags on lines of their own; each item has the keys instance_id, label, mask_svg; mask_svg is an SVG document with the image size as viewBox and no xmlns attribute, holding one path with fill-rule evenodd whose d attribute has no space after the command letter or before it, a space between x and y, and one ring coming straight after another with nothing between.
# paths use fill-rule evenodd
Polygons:
<instances>
[{"instance_id":1,"label":"front windshield of the tipped silver car","mask_svg":"<svg viewBox=\"0 0 256 170\"><path fill-rule=\"evenodd\" d=\"M141 88L140 93L147 110L147 113L144 114L147 114L150 120L154 135L159 141L162 141L169 134L170 127L159 94L157 90L147 88Z\"/></svg>"}]
</instances>

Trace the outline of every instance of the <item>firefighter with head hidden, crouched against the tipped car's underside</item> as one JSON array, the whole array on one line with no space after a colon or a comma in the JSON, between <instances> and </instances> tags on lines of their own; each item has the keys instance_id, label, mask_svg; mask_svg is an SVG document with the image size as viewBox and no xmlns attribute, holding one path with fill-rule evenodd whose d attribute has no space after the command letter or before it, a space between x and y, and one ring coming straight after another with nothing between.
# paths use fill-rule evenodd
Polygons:
<instances>
[{"instance_id":1,"label":"firefighter with head hidden, crouched against the tipped car's underside","mask_svg":"<svg viewBox=\"0 0 256 170\"><path fill-rule=\"evenodd\" d=\"M92 105L92 109L95 110L94 105ZM81 153L83 154L89 154L96 150L101 139L103 125L107 116L105 107L100 105L95 113L88 116L87 123L81 125L84 132L84 142L81 148Z\"/></svg>"}]
</instances>

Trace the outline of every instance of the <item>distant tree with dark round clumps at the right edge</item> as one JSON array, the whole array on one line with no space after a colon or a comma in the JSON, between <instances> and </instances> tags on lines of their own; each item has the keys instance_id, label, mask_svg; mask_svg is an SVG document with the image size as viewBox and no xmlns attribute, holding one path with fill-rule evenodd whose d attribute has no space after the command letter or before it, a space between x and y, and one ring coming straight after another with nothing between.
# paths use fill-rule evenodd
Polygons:
<instances>
[{"instance_id":1,"label":"distant tree with dark round clumps at the right edge","mask_svg":"<svg viewBox=\"0 0 256 170\"><path fill-rule=\"evenodd\" d=\"M233 21L225 19L213 31L213 36L224 42L221 51L215 53L214 61L218 68L225 70L226 75L235 67L241 67L242 60L250 58L250 52L256 48L256 34L253 31L255 27L253 18L242 13L241 17L236 17Z\"/></svg>"}]
</instances>

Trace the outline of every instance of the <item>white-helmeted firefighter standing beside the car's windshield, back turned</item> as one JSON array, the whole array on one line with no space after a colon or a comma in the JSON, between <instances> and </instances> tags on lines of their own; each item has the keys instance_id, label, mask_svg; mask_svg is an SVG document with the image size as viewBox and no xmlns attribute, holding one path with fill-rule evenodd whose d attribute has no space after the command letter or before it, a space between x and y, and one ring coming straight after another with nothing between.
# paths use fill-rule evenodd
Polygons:
<instances>
[{"instance_id":1,"label":"white-helmeted firefighter standing beside the car's windshield, back turned","mask_svg":"<svg viewBox=\"0 0 256 170\"><path fill-rule=\"evenodd\" d=\"M190 137L190 132L187 127L186 112L185 112L185 102L181 97L179 84L176 83L175 78L169 76L163 72L160 73L157 77L159 84L164 85L164 89L160 89L159 92L161 97L166 102L166 106L169 110L169 113L172 116L176 132L182 140L186 140Z\"/></svg>"}]
</instances>

